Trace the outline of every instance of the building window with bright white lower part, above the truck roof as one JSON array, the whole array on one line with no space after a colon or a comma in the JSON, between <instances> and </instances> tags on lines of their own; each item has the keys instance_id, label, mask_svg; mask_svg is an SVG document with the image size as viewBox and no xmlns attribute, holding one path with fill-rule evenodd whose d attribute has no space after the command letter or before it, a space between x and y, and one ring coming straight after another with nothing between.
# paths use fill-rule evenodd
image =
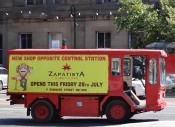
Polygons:
<instances>
[{"instance_id":1,"label":"building window with bright white lower part, above the truck roof","mask_svg":"<svg viewBox=\"0 0 175 127\"><path fill-rule=\"evenodd\" d=\"M49 48L62 48L62 34L48 33Z\"/></svg>"}]
</instances>

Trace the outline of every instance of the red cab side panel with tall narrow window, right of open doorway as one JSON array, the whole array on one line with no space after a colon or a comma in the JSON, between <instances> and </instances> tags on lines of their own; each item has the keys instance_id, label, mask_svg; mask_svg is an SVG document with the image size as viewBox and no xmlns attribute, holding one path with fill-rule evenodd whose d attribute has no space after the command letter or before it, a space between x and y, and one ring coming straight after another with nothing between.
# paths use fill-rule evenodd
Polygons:
<instances>
[{"instance_id":1,"label":"red cab side panel with tall narrow window, right of open doorway","mask_svg":"<svg viewBox=\"0 0 175 127\"><path fill-rule=\"evenodd\" d=\"M153 110L158 101L158 59L149 57L146 68L146 106Z\"/></svg>"}]
</instances>

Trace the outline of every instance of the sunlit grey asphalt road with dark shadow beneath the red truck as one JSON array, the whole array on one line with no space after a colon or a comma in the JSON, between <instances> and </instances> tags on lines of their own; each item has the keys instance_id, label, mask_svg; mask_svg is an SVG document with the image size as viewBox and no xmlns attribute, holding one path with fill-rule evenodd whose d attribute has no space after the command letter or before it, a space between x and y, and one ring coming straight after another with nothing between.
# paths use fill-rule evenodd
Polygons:
<instances>
[{"instance_id":1,"label":"sunlit grey asphalt road with dark shadow beneath the red truck","mask_svg":"<svg viewBox=\"0 0 175 127\"><path fill-rule=\"evenodd\" d=\"M174 127L175 126L175 97L167 97L168 106L159 112L147 112L135 115L127 123L112 124L105 117L103 118L81 118L64 117L63 120L55 121L51 124L38 124L32 121L31 117L26 116L26 109L23 105L10 106L5 101L8 96L5 91L0 92L0 126L61 126L61 127Z\"/></svg>"}]
</instances>

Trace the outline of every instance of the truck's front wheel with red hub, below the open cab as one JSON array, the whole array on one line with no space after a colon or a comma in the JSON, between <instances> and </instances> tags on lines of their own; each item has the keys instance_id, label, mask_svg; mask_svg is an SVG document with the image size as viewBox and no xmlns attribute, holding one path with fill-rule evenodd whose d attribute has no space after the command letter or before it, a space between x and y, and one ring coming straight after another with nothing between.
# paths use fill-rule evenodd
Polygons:
<instances>
[{"instance_id":1,"label":"truck's front wheel with red hub, below the open cab","mask_svg":"<svg viewBox=\"0 0 175 127\"><path fill-rule=\"evenodd\" d=\"M130 114L129 106L123 101L111 101L106 107L106 116L111 122L127 121Z\"/></svg>"}]
</instances>

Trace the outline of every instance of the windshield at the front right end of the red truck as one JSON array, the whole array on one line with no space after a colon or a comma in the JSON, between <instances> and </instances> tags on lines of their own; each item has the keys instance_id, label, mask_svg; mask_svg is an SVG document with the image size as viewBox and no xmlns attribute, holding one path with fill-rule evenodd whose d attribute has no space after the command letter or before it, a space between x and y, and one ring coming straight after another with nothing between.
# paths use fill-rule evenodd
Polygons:
<instances>
[{"instance_id":1,"label":"windshield at the front right end of the red truck","mask_svg":"<svg viewBox=\"0 0 175 127\"><path fill-rule=\"evenodd\" d=\"M166 85L165 60L160 58L160 84Z\"/></svg>"}]
</instances>

